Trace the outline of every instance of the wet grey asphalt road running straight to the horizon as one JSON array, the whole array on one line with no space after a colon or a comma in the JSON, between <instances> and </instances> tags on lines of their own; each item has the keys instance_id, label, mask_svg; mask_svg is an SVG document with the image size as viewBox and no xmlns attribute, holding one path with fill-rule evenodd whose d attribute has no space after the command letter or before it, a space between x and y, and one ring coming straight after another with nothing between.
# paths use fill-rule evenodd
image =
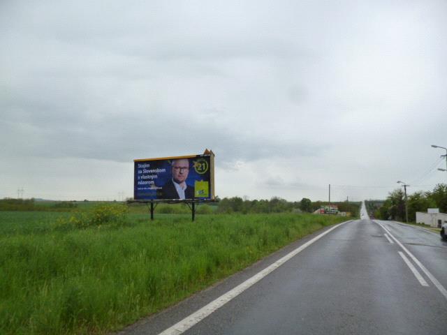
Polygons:
<instances>
[{"instance_id":1,"label":"wet grey asphalt road running straight to the horizon","mask_svg":"<svg viewBox=\"0 0 447 335\"><path fill-rule=\"evenodd\" d=\"M122 334L447 334L447 242L423 228L371 221L364 211L205 318L188 320L318 234Z\"/></svg>"}]
</instances>

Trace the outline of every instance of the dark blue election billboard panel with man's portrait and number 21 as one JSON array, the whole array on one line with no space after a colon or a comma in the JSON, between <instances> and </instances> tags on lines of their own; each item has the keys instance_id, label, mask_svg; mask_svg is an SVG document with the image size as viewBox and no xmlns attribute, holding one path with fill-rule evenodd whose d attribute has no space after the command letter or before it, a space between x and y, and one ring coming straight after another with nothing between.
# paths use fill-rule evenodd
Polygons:
<instances>
[{"instance_id":1,"label":"dark blue election billboard panel with man's portrait and number 21","mask_svg":"<svg viewBox=\"0 0 447 335\"><path fill-rule=\"evenodd\" d=\"M214 200L214 154L135 159L135 200Z\"/></svg>"}]
</instances>

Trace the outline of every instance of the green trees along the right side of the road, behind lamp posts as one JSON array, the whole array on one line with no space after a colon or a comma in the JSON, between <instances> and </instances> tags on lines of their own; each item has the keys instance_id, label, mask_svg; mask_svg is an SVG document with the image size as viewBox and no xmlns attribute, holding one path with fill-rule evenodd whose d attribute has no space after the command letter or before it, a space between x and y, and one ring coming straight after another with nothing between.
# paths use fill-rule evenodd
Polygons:
<instances>
[{"instance_id":1,"label":"green trees along the right side of the road, behind lamp posts","mask_svg":"<svg viewBox=\"0 0 447 335\"><path fill-rule=\"evenodd\" d=\"M367 200L365 205L369 216L381 220L405 220L405 195L400 188L388 193L385 201ZM428 208L439 208L441 213L447 213L447 184L437 184L432 191L408 195L409 221L416 221L416 211L427 211Z\"/></svg>"}]
</instances>

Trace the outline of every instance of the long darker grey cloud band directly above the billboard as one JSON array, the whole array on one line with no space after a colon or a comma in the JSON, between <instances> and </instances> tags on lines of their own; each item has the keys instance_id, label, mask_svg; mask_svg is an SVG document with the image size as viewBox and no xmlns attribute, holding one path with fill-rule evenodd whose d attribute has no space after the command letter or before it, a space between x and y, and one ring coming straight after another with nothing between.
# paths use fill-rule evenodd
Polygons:
<instances>
[{"instance_id":1,"label":"long darker grey cloud band directly above the billboard","mask_svg":"<svg viewBox=\"0 0 447 335\"><path fill-rule=\"evenodd\" d=\"M209 147L222 161L233 162L256 161L266 156L316 156L324 149L310 143L303 146L237 133L219 125L206 126L172 112L104 114L96 120L89 120L87 114L76 114L76 119L69 113L64 119L59 113L56 110L22 121L1 121L3 140L7 137L32 139L16 142L9 154L131 161L145 156L200 153Z\"/></svg>"}]
</instances>

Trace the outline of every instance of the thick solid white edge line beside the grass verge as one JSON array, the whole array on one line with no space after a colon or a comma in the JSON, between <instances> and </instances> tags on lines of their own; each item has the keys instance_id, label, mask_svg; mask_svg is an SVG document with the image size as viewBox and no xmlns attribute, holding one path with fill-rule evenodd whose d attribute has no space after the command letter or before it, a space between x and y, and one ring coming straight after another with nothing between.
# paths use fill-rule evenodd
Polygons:
<instances>
[{"instance_id":1,"label":"thick solid white edge line beside the grass verge","mask_svg":"<svg viewBox=\"0 0 447 335\"><path fill-rule=\"evenodd\" d=\"M351 220L350 220L351 221ZM261 281L262 278L270 274L270 272L274 271L281 265L283 265L285 262L293 258L293 256L297 255L301 251L305 250L308 246L313 244L314 242L318 241L318 239L321 239L325 234L329 234L332 232L332 230L335 230L335 228L339 227L340 225L343 225L344 223L348 223L350 221L345 221L342 223L339 223L338 225L335 225L334 227L326 230L325 232L322 232L318 236L314 237L310 241L307 241L305 244L302 244L302 246L296 248L294 251L291 251L291 253L288 253L283 258L280 258L276 262L274 262L272 265L266 267L262 271L258 272L251 278L247 279L247 281L244 281L244 283L237 285L233 290L230 290L226 292L224 295L221 295L221 297L215 299L214 301L211 301L210 304L207 304L206 306L203 306L198 311L192 313L191 315L187 316L183 320L177 322L172 327L169 327L168 329L161 332L159 335L179 335L183 332L186 332L189 328L193 327L193 325L196 325L198 322L206 318L208 315L216 311L218 308L226 304L231 299L237 297L237 295L240 295L244 290L247 290L247 288L251 287L251 285L254 285L258 281Z\"/></svg>"}]
</instances>

